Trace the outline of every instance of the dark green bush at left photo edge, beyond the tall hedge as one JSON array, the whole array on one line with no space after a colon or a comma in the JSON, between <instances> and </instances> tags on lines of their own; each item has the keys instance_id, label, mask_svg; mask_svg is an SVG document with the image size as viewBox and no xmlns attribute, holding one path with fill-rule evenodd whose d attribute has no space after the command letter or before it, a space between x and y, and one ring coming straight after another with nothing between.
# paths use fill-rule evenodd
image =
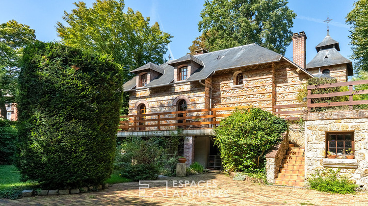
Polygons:
<instances>
[{"instance_id":1,"label":"dark green bush at left photo edge, beyond the tall hedge","mask_svg":"<svg viewBox=\"0 0 368 206\"><path fill-rule=\"evenodd\" d=\"M14 122L0 118L0 164L12 164L17 129Z\"/></svg>"}]
</instances>

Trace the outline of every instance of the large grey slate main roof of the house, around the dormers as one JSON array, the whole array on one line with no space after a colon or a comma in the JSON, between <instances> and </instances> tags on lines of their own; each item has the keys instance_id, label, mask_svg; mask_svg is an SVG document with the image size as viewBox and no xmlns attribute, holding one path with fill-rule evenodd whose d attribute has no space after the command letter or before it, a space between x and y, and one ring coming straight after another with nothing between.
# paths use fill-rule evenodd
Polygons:
<instances>
[{"instance_id":1,"label":"large grey slate main roof of the house, around the dormers","mask_svg":"<svg viewBox=\"0 0 368 206\"><path fill-rule=\"evenodd\" d=\"M198 64L200 64L201 62L203 64L203 67L199 68L196 72L194 72L190 77L185 80L188 82L206 79L210 77L210 75L214 71L257 65L268 62L276 62L280 61L282 57L283 56L281 54L272 52L256 44L249 44L216 52L197 54L195 56L187 54L179 59L171 60L164 64L161 64L160 67L164 68L165 70L164 74L152 80L149 84L145 86L145 88L163 86L172 83L174 81L174 67L171 65L182 61L193 60ZM296 67L299 67L296 64L294 65ZM300 69L313 77L313 75L311 75L306 70L303 70L302 68ZM135 81L134 85L133 81L134 80L130 80L124 84L125 91L134 88Z\"/></svg>"}]
</instances>

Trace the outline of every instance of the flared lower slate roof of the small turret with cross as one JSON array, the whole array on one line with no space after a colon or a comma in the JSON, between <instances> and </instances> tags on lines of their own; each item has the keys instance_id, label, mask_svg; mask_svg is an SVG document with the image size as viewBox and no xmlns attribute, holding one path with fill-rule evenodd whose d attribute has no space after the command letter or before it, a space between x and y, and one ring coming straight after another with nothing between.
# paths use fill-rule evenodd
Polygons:
<instances>
[{"instance_id":1,"label":"flared lower slate roof of the small turret with cross","mask_svg":"<svg viewBox=\"0 0 368 206\"><path fill-rule=\"evenodd\" d=\"M335 48L320 50L315 57L310 61L306 68L316 68L316 67L324 67L324 66L331 66L336 64L347 64L347 75L353 75L353 64L352 62L343 57L340 52L338 52Z\"/></svg>"}]
</instances>

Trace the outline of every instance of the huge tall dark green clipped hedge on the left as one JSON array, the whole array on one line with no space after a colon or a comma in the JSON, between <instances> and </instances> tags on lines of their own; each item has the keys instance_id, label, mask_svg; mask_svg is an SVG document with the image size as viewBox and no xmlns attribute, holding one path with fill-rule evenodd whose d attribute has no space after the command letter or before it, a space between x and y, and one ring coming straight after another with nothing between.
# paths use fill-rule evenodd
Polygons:
<instances>
[{"instance_id":1,"label":"huge tall dark green clipped hedge on the left","mask_svg":"<svg viewBox=\"0 0 368 206\"><path fill-rule=\"evenodd\" d=\"M58 43L24 51L19 76L19 167L49 188L97 185L110 177L122 97L111 57Z\"/></svg>"}]
</instances>

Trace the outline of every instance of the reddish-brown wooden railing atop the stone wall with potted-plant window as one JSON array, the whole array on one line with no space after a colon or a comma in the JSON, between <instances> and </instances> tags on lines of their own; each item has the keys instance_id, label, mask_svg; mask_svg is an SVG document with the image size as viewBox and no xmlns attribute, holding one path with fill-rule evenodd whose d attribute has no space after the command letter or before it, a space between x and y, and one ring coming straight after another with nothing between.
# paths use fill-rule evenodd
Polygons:
<instances>
[{"instance_id":1,"label":"reddish-brown wooden railing atop the stone wall with potted-plant window","mask_svg":"<svg viewBox=\"0 0 368 206\"><path fill-rule=\"evenodd\" d=\"M361 85L361 84L368 84L368 79L366 80L359 80L359 81L347 81L347 82L340 82L340 83L333 83L333 84L322 84L318 86L307 86L308 95L307 95L307 107L308 109L315 108L315 107L328 107L328 106L345 106L348 105L350 108L353 105L358 104L368 104L368 100L359 100L354 101L353 95L361 95L361 94L368 94L368 90L353 90L354 85ZM346 92L332 92L326 94L311 94L313 89L323 89L323 88L330 88L330 87L342 87L348 86L349 91ZM329 103L314 103L312 99L318 98L326 98L326 97L342 97L348 96L349 101L344 102L329 102Z\"/></svg>"}]
</instances>

